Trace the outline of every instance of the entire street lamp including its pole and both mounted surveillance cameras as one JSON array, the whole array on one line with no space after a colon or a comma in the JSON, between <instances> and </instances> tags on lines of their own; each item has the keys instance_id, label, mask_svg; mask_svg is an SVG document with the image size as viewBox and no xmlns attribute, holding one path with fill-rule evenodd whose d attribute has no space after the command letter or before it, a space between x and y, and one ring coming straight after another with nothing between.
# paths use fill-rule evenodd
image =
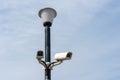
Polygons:
<instances>
[{"instance_id":1,"label":"entire street lamp including its pole and both mounted surveillance cameras","mask_svg":"<svg viewBox=\"0 0 120 80\"><path fill-rule=\"evenodd\" d=\"M43 21L45 27L45 61L43 51L38 51L36 58L45 69L45 80L51 80L51 70L54 66L59 65L63 60L70 60L72 52L57 53L54 57L55 62L51 62L51 46L50 46L50 27L53 19L57 16L57 12L52 8L44 8L39 11L39 17Z\"/></svg>"}]
</instances>

